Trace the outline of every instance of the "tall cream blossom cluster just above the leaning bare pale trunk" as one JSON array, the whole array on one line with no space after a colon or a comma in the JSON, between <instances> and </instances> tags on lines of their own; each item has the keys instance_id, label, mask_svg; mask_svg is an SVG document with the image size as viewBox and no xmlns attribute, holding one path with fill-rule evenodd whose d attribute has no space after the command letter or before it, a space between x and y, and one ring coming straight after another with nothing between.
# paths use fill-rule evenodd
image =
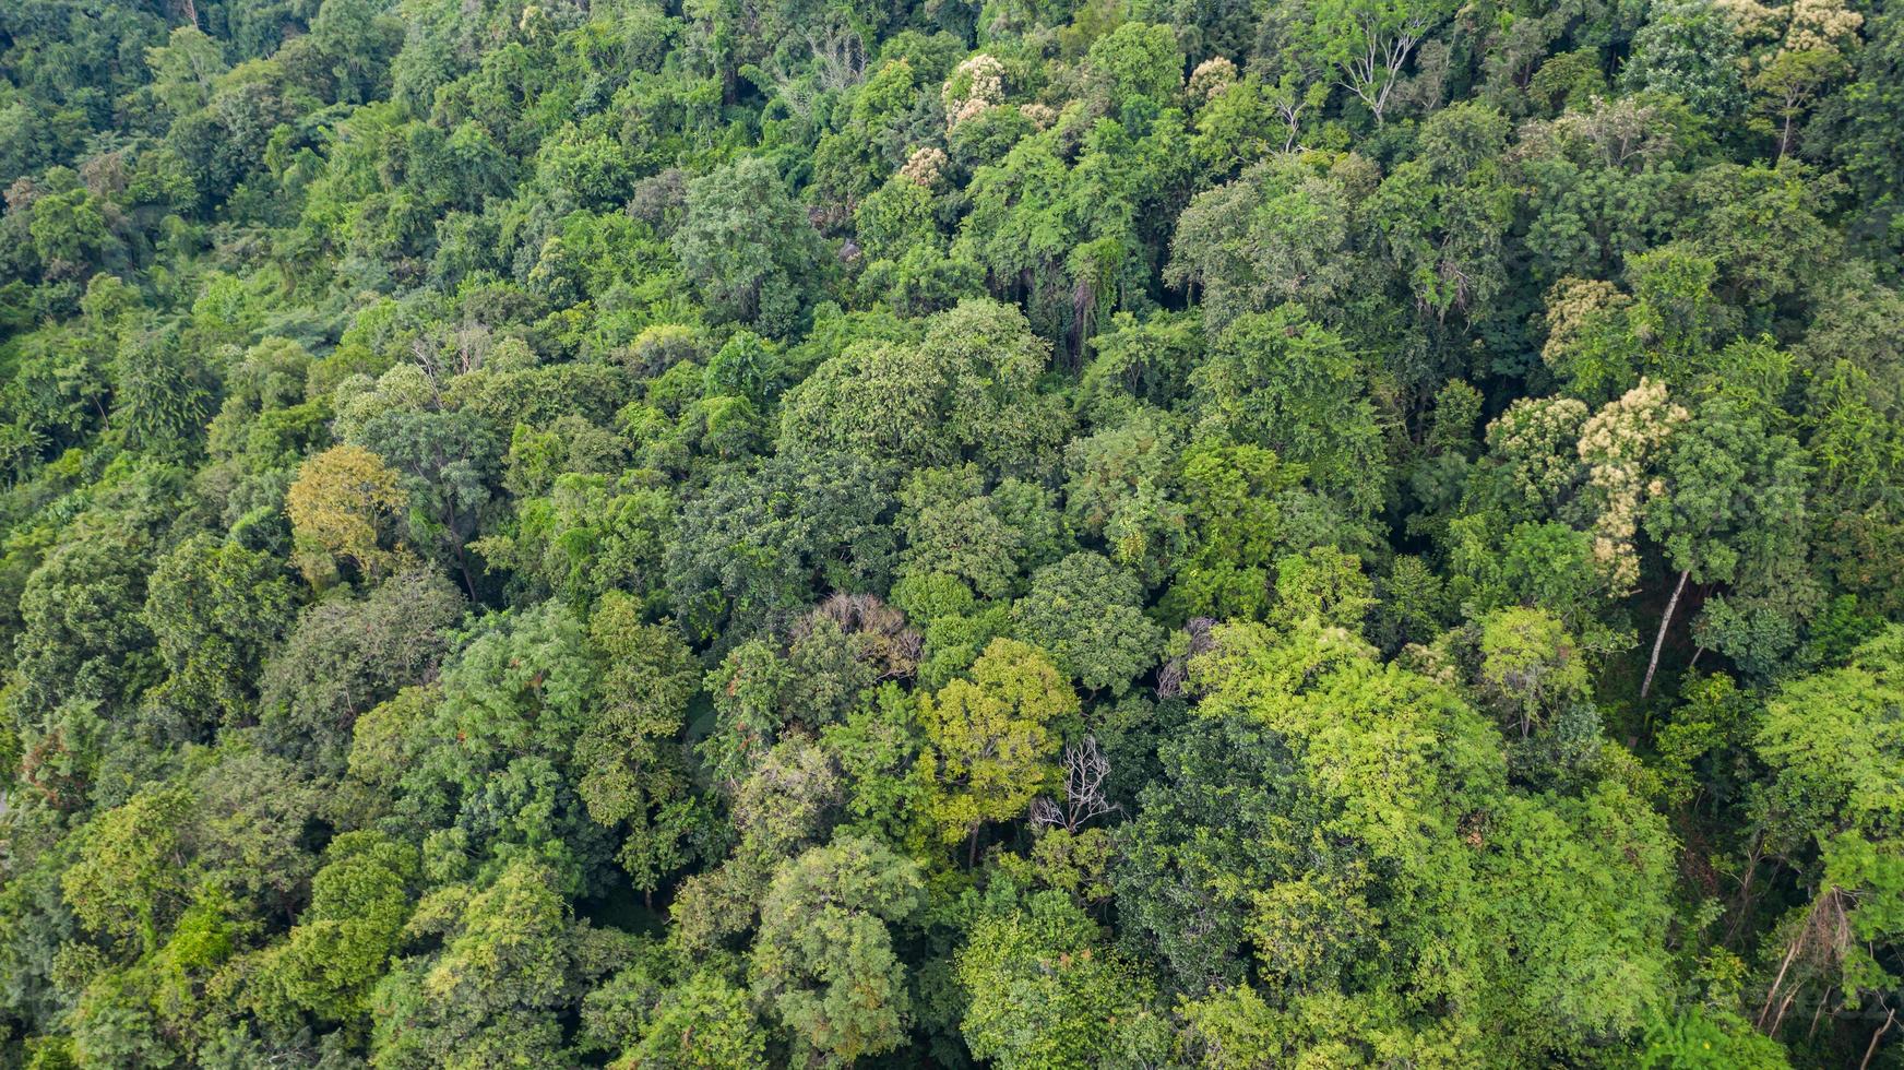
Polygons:
<instances>
[{"instance_id":1,"label":"tall cream blossom cluster just above the leaning bare pale trunk","mask_svg":"<svg viewBox=\"0 0 1904 1070\"><path fill-rule=\"evenodd\" d=\"M1607 402L1580 430L1580 461L1599 506L1594 522L1594 560L1605 569L1615 594L1639 583L1634 533L1649 497L1664 491L1647 478L1651 461L1689 413L1666 396L1666 383L1641 379L1624 396Z\"/></svg>"}]
</instances>

